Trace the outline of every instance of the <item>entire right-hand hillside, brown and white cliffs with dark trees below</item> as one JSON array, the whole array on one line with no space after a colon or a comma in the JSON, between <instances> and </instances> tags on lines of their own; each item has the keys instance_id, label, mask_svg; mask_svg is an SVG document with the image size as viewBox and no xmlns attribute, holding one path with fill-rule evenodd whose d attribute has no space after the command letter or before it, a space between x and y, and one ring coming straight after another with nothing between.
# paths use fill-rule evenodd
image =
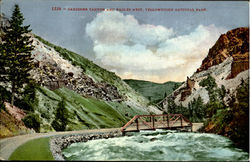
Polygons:
<instances>
[{"instance_id":1,"label":"entire right-hand hillside, brown and white cliffs with dark trees below","mask_svg":"<svg viewBox=\"0 0 250 162\"><path fill-rule=\"evenodd\" d=\"M222 34L201 66L159 105L204 122L249 152L249 28Z\"/></svg>"}]
</instances>

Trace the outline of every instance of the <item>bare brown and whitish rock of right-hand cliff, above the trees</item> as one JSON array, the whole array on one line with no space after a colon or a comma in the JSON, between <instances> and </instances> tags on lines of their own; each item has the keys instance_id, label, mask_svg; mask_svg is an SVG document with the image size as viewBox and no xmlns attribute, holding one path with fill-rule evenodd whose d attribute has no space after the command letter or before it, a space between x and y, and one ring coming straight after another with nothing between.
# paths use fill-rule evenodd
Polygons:
<instances>
[{"instance_id":1,"label":"bare brown and whitish rock of right-hand cliff, above the trees","mask_svg":"<svg viewBox=\"0 0 250 162\"><path fill-rule=\"evenodd\" d=\"M249 28L237 28L222 34L215 45L209 50L201 66L186 82L166 97L161 103L165 109L168 99L175 104L188 106L194 98L199 96L204 103L209 102L209 94L205 87L199 83L211 75L215 78L219 88L225 87L227 94L224 101L228 104L230 96L235 93L241 80L246 80L249 69Z\"/></svg>"}]
</instances>

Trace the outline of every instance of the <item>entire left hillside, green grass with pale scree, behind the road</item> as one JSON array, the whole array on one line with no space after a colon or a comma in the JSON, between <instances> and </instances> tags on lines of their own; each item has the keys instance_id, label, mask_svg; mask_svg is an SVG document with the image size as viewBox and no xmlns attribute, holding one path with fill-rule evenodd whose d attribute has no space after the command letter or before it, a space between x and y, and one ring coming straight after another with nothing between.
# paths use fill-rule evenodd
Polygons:
<instances>
[{"instance_id":1,"label":"entire left hillside, green grass with pale scree, behind the road","mask_svg":"<svg viewBox=\"0 0 250 162\"><path fill-rule=\"evenodd\" d=\"M34 68L29 72L33 83L15 96L14 103L25 110L22 122L26 127L36 132L114 128L135 115L162 113L115 73L39 36L28 35L34 46ZM10 85L0 86L1 102L9 101Z\"/></svg>"}]
</instances>

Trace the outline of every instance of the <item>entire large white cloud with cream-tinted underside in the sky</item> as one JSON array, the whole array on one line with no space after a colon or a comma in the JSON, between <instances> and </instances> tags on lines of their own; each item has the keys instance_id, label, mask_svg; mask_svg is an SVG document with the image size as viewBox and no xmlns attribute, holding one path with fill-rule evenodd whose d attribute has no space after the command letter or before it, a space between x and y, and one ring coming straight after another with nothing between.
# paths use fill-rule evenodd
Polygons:
<instances>
[{"instance_id":1,"label":"entire large white cloud with cream-tinted underside in the sky","mask_svg":"<svg viewBox=\"0 0 250 162\"><path fill-rule=\"evenodd\" d=\"M201 64L221 33L214 25L199 25L174 37L173 29L139 24L134 16L104 11L87 24L99 63L122 78L157 82L183 81Z\"/></svg>"}]
</instances>

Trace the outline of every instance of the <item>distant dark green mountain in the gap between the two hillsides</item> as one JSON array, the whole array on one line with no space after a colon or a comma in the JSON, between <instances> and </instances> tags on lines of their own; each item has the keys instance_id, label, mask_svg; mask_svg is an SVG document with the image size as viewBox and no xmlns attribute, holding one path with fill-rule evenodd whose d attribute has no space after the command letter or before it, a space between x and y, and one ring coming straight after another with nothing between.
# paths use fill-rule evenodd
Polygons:
<instances>
[{"instance_id":1,"label":"distant dark green mountain in the gap between the two hillsides","mask_svg":"<svg viewBox=\"0 0 250 162\"><path fill-rule=\"evenodd\" d=\"M125 79L124 81L152 103L160 102L182 84L172 81L161 84L134 79Z\"/></svg>"}]
</instances>

